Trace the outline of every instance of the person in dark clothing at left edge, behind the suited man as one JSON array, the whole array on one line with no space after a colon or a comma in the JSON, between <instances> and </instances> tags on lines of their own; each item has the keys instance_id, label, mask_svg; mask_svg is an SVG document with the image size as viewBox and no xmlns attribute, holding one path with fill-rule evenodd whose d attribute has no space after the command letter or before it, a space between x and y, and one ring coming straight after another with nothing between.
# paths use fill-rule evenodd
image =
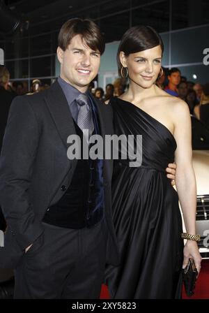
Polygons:
<instances>
[{"instance_id":1,"label":"person in dark clothing at left edge, behind the suited man","mask_svg":"<svg viewBox=\"0 0 209 313\"><path fill-rule=\"evenodd\" d=\"M14 95L7 91L9 79L8 69L5 66L0 66L0 152L10 104L14 99ZM0 230L5 231L5 228L6 222L0 208Z\"/></svg>"}]
</instances>

